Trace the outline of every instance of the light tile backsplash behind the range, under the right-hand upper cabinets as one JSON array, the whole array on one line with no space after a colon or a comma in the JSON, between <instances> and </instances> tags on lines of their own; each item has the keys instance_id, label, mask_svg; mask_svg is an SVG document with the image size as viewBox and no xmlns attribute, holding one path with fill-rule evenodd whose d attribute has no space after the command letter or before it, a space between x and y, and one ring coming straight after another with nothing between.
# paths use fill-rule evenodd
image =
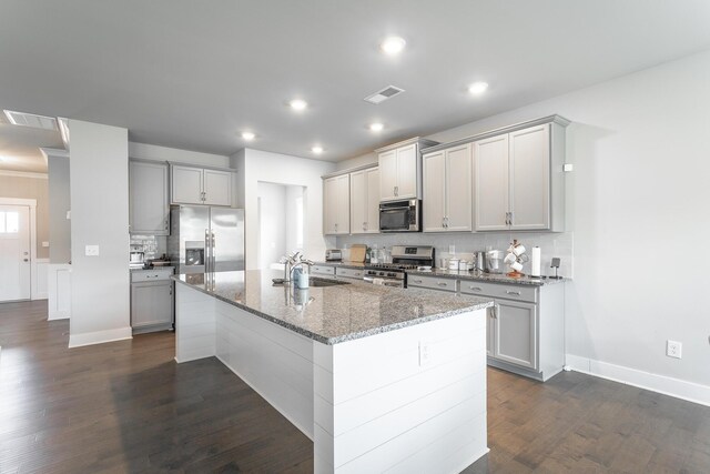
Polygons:
<instances>
[{"instance_id":1,"label":"light tile backsplash behind the range, under the right-hand upper cabinets","mask_svg":"<svg viewBox=\"0 0 710 474\"><path fill-rule=\"evenodd\" d=\"M437 259L453 256L449 246L455 246L454 255L463 259L470 259L477 251L508 249L514 239L525 245L528 255L534 246L539 246L542 255L542 275L554 275L555 270L550 268L552 258L560 259L559 275L574 278L574 232L486 232L486 233L396 233L396 234L371 234L371 235L343 235L336 239L338 249L347 249L354 243L362 243L368 246L377 245L389 249L392 245L434 245ZM317 258L322 260L323 256ZM525 263L523 273L530 272L530 263Z\"/></svg>"}]
</instances>

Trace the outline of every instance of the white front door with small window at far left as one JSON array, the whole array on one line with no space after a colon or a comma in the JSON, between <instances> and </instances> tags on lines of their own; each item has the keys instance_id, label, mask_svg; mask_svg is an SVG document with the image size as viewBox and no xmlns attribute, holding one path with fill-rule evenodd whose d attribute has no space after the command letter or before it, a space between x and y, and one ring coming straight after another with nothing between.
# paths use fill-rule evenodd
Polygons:
<instances>
[{"instance_id":1,"label":"white front door with small window at far left","mask_svg":"<svg viewBox=\"0 0 710 474\"><path fill-rule=\"evenodd\" d=\"M0 302L30 299L30 208L0 205Z\"/></svg>"}]
</instances>

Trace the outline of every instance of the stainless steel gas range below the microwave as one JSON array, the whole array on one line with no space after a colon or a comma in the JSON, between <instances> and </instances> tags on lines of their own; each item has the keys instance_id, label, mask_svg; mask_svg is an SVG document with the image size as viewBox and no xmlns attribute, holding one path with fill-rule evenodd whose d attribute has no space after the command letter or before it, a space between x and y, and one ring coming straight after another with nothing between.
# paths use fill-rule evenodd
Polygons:
<instances>
[{"instance_id":1,"label":"stainless steel gas range below the microwave","mask_svg":"<svg viewBox=\"0 0 710 474\"><path fill-rule=\"evenodd\" d=\"M429 245L393 245L392 263L365 264L363 281L385 286L407 286L407 270L434 265L434 248Z\"/></svg>"}]
</instances>

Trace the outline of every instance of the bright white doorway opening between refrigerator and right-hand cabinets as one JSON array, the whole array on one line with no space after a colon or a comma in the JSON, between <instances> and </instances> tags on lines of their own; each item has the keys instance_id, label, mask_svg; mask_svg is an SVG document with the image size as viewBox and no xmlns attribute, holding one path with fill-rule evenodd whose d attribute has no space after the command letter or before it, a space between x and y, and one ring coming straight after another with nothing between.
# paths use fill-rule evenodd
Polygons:
<instances>
[{"instance_id":1,"label":"bright white doorway opening between refrigerator and right-hand cabinets","mask_svg":"<svg viewBox=\"0 0 710 474\"><path fill-rule=\"evenodd\" d=\"M278 259L304 249L304 186L260 181L258 269L278 269Z\"/></svg>"}]
</instances>

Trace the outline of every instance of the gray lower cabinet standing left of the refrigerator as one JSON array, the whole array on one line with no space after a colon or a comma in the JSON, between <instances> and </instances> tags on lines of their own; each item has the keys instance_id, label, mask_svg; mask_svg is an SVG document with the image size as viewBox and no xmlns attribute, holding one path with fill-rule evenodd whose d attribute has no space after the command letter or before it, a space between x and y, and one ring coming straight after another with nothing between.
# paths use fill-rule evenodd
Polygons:
<instances>
[{"instance_id":1,"label":"gray lower cabinet standing left of the refrigerator","mask_svg":"<svg viewBox=\"0 0 710 474\"><path fill-rule=\"evenodd\" d=\"M131 326L133 334L173 327L173 269L131 272Z\"/></svg>"}]
</instances>

